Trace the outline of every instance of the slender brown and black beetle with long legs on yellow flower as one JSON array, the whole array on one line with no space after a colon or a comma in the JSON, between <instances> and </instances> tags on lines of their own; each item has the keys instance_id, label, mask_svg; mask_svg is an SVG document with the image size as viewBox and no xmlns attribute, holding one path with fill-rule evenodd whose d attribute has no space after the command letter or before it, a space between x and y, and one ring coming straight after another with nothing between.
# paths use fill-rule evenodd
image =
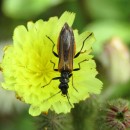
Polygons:
<instances>
[{"instance_id":1,"label":"slender brown and black beetle with long legs on yellow flower","mask_svg":"<svg viewBox=\"0 0 130 130\"><path fill-rule=\"evenodd\" d=\"M86 39L88 39L91 35L92 35L92 33L90 33ZM53 44L53 47L52 47L53 54L59 58L58 69L55 69L55 63L53 61L50 61L50 62L53 64L54 71L59 71L61 73L61 76L54 77L53 79L50 80L50 82L48 84L44 85L43 87L49 85L52 80L59 79L60 91L58 93L62 92L62 95L66 96L69 101L69 97L68 97L69 79L70 79L70 77L72 77L72 86L77 91L77 89L74 87L74 84L73 84L73 73L72 72L80 70L80 64L82 62L86 61L86 59L85 59L85 60L79 62L78 63L79 68L73 69L73 60L74 60L74 58L77 58L81 54L86 39L83 41L80 51L78 53L76 53L76 43L75 43L75 39L74 39L73 30L71 27L69 27L69 25L67 23L65 23L59 34L58 44L57 44L57 52L58 52L58 54L57 54L56 52L54 52L55 43L52 41L52 39L50 37L47 36L47 38ZM56 93L56 94L58 94L58 93ZM55 95L53 95L53 96L55 96ZM52 97L50 97L50 98L52 98ZM71 104L70 101L69 101L69 104Z\"/></svg>"}]
</instances>

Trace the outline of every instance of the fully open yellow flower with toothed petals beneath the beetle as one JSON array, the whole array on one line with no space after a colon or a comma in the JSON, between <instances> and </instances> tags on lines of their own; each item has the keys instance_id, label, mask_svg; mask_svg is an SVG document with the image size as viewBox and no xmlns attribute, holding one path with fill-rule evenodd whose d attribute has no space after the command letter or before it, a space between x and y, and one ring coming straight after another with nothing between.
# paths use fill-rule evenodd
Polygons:
<instances>
[{"instance_id":1,"label":"fully open yellow flower with toothed petals beneath the beetle","mask_svg":"<svg viewBox=\"0 0 130 130\"><path fill-rule=\"evenodd\" d=\"M60 72L53 70L53 61L58 67L58 58L52 52L53 44L47 38L57 44L57 39L61 28L68 23L72 25L75 18L74 13L65 12L58 19L52 17L48 21L38 20L36 23L29 22L27 28L18 26L14 31L13 45L5 48L4 58L1 64L4 76L3 87L16 92L17 98L30 104L29 113L33 116L41 112L47 112L48 109L56 113L70 112L74 103L85 100L90 93L99 94L102 83L95 76L97 75L96 65L91 52L92 43L95 41L93 34L86 40L83 52L74 59L74 68L78 68L78 63L87 59L81 64L79 71L73 72L73 82L76 88L72 86L72 77L70 78L67 97L58 93L60 81L52 80L54 77L60 77ZM76 41L76 52L83 44L84 39L91 32L78 34L74 30ZM57 46L54 51L57 52ZM43 87L44 86L44 87Z\"/></svg>"}]
</instances>

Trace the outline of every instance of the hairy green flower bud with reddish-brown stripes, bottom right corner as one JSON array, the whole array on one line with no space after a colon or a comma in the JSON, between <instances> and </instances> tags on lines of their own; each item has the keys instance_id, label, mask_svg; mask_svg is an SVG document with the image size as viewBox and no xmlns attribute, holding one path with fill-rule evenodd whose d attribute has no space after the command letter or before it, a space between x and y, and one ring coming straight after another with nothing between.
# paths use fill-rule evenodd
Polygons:
<instances>
[{"instance_id":1,"label":"hairy green flower bud with reddish-brown stripes, bottom right corner","mask_svg":"<svg viewBox=\"0 0 130 130\"><path fill-rule=\"evenodd\" d=\"M126 130L129 128L130 110L128 101L117 99L109 102L103 115L102 124L103 130Z\"/></svg>"}]
</instances>

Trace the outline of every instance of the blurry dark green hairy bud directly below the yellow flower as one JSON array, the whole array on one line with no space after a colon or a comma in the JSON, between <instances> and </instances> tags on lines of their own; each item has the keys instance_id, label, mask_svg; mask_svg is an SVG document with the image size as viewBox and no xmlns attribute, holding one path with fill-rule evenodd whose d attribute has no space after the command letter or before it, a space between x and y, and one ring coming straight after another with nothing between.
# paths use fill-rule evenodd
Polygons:
<instances>
[{"instance_id":1,"label":"blurry dark green hairy bud directly below the yellow flower","mask_svg":"<svg viewBox=\"0 0 130 130\"><path fill-rule=\"evenodd\" d=\"M48 111L36 118L38 130L64 130L73 129L71 114L56 114L54 111Z\"/></svg>"}]
</instances>

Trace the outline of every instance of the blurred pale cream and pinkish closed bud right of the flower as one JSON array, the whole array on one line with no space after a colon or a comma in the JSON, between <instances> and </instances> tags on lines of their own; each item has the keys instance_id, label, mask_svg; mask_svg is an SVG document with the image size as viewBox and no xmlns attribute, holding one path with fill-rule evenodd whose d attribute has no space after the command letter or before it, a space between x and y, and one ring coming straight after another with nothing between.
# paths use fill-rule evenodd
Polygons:
<instances>
[{"instance_id":1,"label":"blurred pale cream and pinkish closed bud right of the flower","mask_svg":"<svg viewBox=\"0 0 130 130\"><path fill-rule=\"evenodd\" d=\"M120 38L113 37L104 45L101 60L112 83L130 79L130 52Z\"/></svg>"}]
</instances>

